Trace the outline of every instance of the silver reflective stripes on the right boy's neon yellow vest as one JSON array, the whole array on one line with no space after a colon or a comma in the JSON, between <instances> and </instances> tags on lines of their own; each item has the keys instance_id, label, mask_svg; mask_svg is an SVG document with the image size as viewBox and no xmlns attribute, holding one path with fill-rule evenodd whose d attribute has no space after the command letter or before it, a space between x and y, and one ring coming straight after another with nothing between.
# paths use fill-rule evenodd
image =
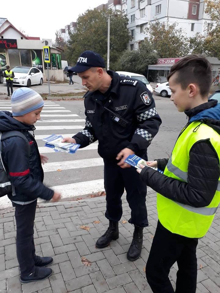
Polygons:
<instances>
[{"instance_id":1,"label":"silver reflective stripes on the right boy's neon yellow vest","mask_svg":"<svg viewBox=\"0 0 220 293\"><path fill-rule=\"evenodd\" d=\"M176 166L174 166L172 164L172 156L170 157L168 163L167 163L167 169L168 171L172 172L174 175L176 175L177 177L179 177L180 179L182 179L183 181L187 182L188 179L188 172L184 172L182 170L180 170L179 168L177 168ZM220 181L218 181L218 187L217 190L220 191ZM214 208L207 208L207 207L202 207L202 208L194 208L190 205L187 204L181 204L177 201L175 201L176 204L180 205L182 208L187 209L190 212L194 212L200 215L206 215L206 216L210 216L210 215L215 215L218 207L214 207Z\"/></svg>"}]
</instances>

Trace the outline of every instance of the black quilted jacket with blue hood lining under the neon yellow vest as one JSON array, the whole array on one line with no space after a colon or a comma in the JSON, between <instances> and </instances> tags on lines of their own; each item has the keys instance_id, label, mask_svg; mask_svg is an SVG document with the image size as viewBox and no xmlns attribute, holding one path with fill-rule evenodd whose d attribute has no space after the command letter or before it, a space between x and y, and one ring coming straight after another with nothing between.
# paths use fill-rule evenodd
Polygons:
<instances>
[{"instance_id":1,"label":"black quilted jacket with blue hood lining under the neon yellow vest","mask_svg":"<svg viewBox=\"0 0 220 293\"><path fill-rule=\"evenodd\" d=\"M201 121L220 134L220 104L216 100L185 111L185 114L189 117L188 124ZM158 168L164 170L167 162L168 159L157 160ZM167 177L148 167L140 175L148 186L173 201L196 208L205 207L211 203L218 186L219 160L211 143L208 140L200 141L190 151L188 183Z\"/></svg>"}]
</instances>

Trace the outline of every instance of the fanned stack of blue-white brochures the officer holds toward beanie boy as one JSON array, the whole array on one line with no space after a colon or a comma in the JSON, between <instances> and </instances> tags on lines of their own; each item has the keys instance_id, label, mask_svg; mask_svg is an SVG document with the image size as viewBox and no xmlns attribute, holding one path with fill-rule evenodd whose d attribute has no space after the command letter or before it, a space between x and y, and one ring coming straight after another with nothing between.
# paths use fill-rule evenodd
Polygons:
<instances>
[{"instance_id":1,"label":"fanned stack of blue-white brochures the officer holds toward beanie boy","mask_svg":"<svg viewBox=\"0 0 220 293\"><path fill-rule=\"evenodd\" d=\"M66 152L74 154L80 147L80 144L78 143L62 143L63 139L64 138L62 135L52 134L42 140L46 141L45 147L51 147L55 152Z\"/></svg>"}]
</instances>

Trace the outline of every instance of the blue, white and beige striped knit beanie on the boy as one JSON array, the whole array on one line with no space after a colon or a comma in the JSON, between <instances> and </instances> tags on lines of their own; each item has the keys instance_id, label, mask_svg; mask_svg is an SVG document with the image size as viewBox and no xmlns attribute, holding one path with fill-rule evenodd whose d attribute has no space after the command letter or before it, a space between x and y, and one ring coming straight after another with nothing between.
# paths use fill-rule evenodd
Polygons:
<instances>
[{"instance_id":1,"label":"blue, white and beige striped knit beanie on the boy","mask_svg":"<svg viewBox=\"0 0 220 293\"><path fill-rule=\"evenodd\" d=\"M33 89L16 89L11 97L13 116L22 116L44 106L42 97Z\"/></svg>"}]
</instances>

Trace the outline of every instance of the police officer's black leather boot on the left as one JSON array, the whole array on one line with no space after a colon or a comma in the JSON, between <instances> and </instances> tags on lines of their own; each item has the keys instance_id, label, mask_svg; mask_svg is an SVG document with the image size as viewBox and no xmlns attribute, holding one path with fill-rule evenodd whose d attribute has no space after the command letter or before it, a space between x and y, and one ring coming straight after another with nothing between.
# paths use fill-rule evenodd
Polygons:
<instances>
[{"instance_id":1,"label":"police officer's black leather boot on the left","mask_svg":"<svg viewBox=\"0 0 220 293\"><path fill-rule=\"evenodd\" d=\"M103 234L99 239L96 241L97 248L103 248L108 246L108 244L112 240L116 240L119 237L119 230L118 230L118 222L109 221L109 227L106 230L105 234Z\"/></svg>"}]
</instances>

